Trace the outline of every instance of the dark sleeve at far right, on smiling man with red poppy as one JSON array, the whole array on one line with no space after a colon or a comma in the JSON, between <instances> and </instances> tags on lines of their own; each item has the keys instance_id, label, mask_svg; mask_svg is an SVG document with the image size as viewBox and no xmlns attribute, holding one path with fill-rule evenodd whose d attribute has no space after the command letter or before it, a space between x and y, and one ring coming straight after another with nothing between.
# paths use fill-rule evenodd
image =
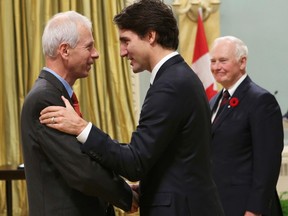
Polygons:
<instances>
[{"instance_id":1,"label":"dark sleeve at far right, on smiling man with red poppy","mask_svg":"<svg viewBox=\"0 0 288 216\"><path fill-rule=\"evenodd\" d=\"M280 107L271 94L257 99L250 115L253 149L253 185L247 210L262 213L272 202L283 150L283 122Z\"/></svg>"}]
</instances>

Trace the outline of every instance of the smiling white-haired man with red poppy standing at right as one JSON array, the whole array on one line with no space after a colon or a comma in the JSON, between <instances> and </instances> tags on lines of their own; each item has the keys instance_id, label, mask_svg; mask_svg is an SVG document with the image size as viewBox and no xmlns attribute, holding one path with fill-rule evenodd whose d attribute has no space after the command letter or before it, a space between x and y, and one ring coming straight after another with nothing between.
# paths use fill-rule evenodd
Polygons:
<instances>
[{"instance_id":1,"label":"smiling white-haired man with red poppy standing at right","mask_svg":"<svg viewBox=\"0 0 288 216\"><path fill-rule=\"evenodd\" d=\"M210 55L212 74L223 86L210 107L212 171L225 215L281 216L276 192L283 149L280 107L247 75L243 41L217 38Z\"/></svg>"}]
</instances>

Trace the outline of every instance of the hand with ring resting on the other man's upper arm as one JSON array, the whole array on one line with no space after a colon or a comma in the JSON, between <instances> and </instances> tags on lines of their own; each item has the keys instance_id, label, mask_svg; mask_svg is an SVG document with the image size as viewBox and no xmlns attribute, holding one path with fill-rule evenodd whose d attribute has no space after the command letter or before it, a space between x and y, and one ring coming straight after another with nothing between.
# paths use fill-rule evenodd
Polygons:
<instances>
[{"instance_id":1,"label":"hand with ring resting on the other man's upper arm","mask_svg":"<svg viewBox=\"0 0 288 216\"><path fill-rule=\"evenodd\" d=\"M88 122L75 112L70 102L64 96L61 98L65 103L65 107L46 107L41 111L39 120L48 127L78 136L87 126Z\"/></svg>"}]
</instances>

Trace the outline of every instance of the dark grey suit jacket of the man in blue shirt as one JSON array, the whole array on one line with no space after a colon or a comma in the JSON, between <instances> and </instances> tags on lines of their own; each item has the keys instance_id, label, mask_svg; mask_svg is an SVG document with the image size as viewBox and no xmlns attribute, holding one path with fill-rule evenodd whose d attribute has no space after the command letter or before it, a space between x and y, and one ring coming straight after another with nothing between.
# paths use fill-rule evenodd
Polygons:
<instances>
[{"instance_id":1,"label":"dark grey suit jacket of the man in blue shirt","mask_svg":"<svg viewBox=\"0 0 288 216\"><path fill-rule=\"evenodd\" d=\"M129 185L80 150L75 136L40 124L40 111L64 106L62 83L47 71L31 89L21 113L22 144L30 216L105 215L107 202L130 210ZM104 201L106 200L106 201Z\"/></svg>"}]
</instances>

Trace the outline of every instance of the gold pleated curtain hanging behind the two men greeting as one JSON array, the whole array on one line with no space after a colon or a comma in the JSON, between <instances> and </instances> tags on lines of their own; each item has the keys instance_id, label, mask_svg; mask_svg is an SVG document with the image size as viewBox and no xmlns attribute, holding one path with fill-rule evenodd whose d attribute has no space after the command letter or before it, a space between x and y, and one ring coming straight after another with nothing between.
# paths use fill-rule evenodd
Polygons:
<instances>
[{"instance_id":1,"label":"gold pleated curtain hanging behind the two men greeting","mask_svg":"<svg viewBox=\"0 0 288 216\"><path fill-rule=\"evenodd\" d=\"M74 90L84 118L112 138L129 142L136 127L128 62L120 57L118 32L112 19L124 0L1 0L0 1L0 165L23 162L20 113L25 96L42 67L41 37L55 13L75 10L93 23L100 58L88 78ZM28 215L25 181L13 181L13 215ZM5 185L0 182L0 216L6 215Z\"/></svg>"}]
</instances>

